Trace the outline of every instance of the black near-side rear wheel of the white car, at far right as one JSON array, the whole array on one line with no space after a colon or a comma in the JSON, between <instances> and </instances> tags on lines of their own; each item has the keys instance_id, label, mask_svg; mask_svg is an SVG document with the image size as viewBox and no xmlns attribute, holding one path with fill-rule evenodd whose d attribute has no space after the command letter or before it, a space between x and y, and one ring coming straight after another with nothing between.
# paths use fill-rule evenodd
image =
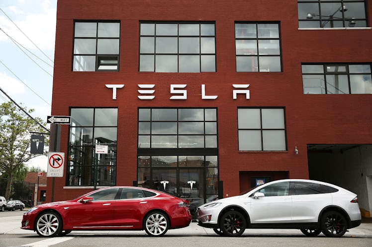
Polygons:
<instances>
[{"instance_id":1,"label":"black near-side rear wheel of the white car, at far right","mask_svg":"<svg viewBox=\"0 0 372 247\"><path fill-rule=\"evenodd\" d=\"M342 237L348 230L348 222L343 214L328 211L320 219L320 228L327 237Z\"/></svg>"}]
</instances>

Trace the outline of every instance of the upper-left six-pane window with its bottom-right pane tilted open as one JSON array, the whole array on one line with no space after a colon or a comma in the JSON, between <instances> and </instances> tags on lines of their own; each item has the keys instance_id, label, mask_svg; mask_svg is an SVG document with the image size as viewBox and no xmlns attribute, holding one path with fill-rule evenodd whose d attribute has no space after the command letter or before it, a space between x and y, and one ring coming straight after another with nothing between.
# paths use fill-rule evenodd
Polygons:
<instances>
[{"instance_id":1,"label":"upper-left six-pane window with its bottom-right pane tilted open","mask_svg":"<svg viewBox=\"0 0 372 247\"><path fill-rule=\"evenodd\" d=\"M120 23L75 22L73 71L119 70Z\"/></svg>"}]
</instances>

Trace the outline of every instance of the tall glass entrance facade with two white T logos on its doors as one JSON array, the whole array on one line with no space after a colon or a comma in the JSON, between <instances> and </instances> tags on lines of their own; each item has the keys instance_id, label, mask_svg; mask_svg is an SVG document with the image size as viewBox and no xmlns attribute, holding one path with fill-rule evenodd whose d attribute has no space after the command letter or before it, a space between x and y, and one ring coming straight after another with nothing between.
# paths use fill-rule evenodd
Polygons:
<instances>
[{"instance_id":1,"label":"tall glass entrance facade with two white T logos on its doors","mask_svg":"<svg viewBox=\"0 0 372 247\"><path fill-rule=\"evenodd\" d=\"M138 109L139 186L185 198L191 213L218 197L217 109Z\"/></svg>"}]
</instances>

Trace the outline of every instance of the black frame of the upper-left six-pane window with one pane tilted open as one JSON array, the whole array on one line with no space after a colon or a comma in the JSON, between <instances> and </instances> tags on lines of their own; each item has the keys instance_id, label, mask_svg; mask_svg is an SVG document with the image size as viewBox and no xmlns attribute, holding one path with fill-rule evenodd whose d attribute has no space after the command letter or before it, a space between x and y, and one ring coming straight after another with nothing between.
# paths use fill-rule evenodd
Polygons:
<instances>
[{"instance_id":1,"label":"black frame of the upper-left six-pane window with one pane tilted open","mask_svg":"<svg viewBox=\"0 0 372 247\"><path fill-rule=\"evenodd\" d=\"M96 23L96 34L95 37L80 37L75 36L75 25L76 23ZM99 23L118 23L119 24L119 37L98 37L98 24ZM120 20L74 20L74 38L73 38L73 51L72 51L72 71L74 72L87 72L92 70L74 70L74 63L76 56L91 56L95 58L94 71L119 71L120 66ZM75 39L95 39L95 54L75 54ZM112 39L118 40L118 54L97 54L98 40L99 39ZM101 64L100 60L108 61L105 64ZM117 63L113 63L116 59ZM99 69L100 65L117 65L116 69Z\"/></svg>"}]
</instances>

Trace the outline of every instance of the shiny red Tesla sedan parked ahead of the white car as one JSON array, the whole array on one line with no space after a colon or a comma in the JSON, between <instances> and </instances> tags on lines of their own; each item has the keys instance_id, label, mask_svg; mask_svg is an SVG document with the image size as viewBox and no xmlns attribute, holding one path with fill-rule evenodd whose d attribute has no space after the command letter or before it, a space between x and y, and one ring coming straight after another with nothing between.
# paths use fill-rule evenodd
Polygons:
<instances>
[{"instance_id":1,"label":"shiny red Tesla sedan parked ahead of the white car","mask_svg":"<svg viewBox=\"0 0 372 247\"><path fill-rule=\"evenodd\" d=\"M190 222L188 204L181 198L148 188L115 186L33 207L23 214L21 228L42 237L74 230L145 230L150 236L162 236Z\"/></svg>"}]
</instances>

